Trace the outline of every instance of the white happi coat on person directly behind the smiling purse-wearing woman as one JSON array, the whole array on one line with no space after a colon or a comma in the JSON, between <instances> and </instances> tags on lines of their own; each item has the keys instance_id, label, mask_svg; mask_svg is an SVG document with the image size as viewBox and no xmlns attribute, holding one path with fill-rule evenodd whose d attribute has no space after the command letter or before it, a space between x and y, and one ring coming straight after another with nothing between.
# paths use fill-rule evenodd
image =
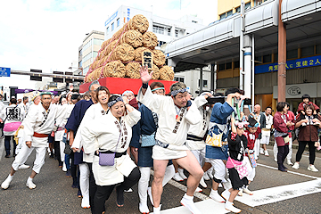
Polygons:
<instances>
[{"instance_id":1,"label":"white happi coat on person directly behind the smiling purse-wearing woman","mask_svg":"<svg viewBox=\"0 0 321 214\"><path fill-rule=\"evenodd\" d=\"M82 137L81 137L81 129L84 127L86 123L91 123L95 121L95 119L102 117L106 114L106 111L103 110L103 106L101 103L92 104L87 110L86 113L81 120L81 123L78 127L77 132L79 135L76 135L73 144L71 145L72 148L80 149L83 147ZM83 153L83 161L87 163L92 163L94 161L94 152L90 153Z\"/></svg>"}]
</instances>

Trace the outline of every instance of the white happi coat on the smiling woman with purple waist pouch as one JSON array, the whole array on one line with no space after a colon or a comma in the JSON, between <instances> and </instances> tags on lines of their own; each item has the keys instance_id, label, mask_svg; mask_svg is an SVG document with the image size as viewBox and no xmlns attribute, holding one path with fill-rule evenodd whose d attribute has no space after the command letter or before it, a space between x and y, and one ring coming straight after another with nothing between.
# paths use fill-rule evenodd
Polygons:
<instances>
[{"instance_id":1,"label":"white happi coat on the smiling woman with purple waist pouch","mask_svg":"<svg viewBox=\"0 0 321 214\"><path fill-rule=\"evenodd\" d=\"M89 109L88 109L89 110ZM85 153L95 151L126 152L132 137L132 127L139 121L140 112L134 109L119 120L111 111L94 120L87 121L81 128L81 139ZM84 119L83 119L84 121ZM117 146L117 148L116 148ZM93 173L96 185L115 185L124 181L130 172L136 168L128 153L115 158L113 166L99 165L99 157L94 156Z\"/></svg>"}]
</instances>

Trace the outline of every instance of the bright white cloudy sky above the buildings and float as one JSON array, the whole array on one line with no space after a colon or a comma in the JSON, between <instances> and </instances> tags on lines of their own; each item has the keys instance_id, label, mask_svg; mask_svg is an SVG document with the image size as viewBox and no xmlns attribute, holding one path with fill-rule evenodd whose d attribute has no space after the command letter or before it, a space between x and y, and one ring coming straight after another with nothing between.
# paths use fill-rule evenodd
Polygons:
<instances>
[{"instance_id":1,"label":"bright white cloudy sky above the buildings and float","mask_svg":"<svg viewBox=\"0 0 321 214\"><path fill-rule=\"evenodd\" d=\"M0 1L0 67L70 71L78 47L92 30L127 5L177 20L197 15L204 25L217 20L217 0L9 0ZM75 66L75 65L73 65ZM27 76L0 77L0 86L35 87Z\"/></svg>"}]
</instances>

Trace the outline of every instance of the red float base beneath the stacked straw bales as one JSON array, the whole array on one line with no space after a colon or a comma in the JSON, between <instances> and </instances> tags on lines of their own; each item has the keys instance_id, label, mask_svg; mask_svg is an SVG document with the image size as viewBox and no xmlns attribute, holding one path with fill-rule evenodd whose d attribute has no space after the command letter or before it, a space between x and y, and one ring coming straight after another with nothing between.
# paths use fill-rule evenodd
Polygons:
<instances>
[{"instance_id":1,"label":"red float base beneath the stacked straw bales","mask_svg":"<svg viewBox=\"0 0 321 214\"><path fill-rule=\"evenodd\" d=\"M142 80L140 78L100 78L99 83L101 86L106 86L111 94L122 94L126 90L131 90L137 95L139 88L142 86ZM169 93L169 87L177 81L165 81L165 80L151 80L152 82L161 82L165 86L166 94ZM85 93L88 91L90 83L84 83L79 86L79 92Z\"/></svg>"}]
</instances>

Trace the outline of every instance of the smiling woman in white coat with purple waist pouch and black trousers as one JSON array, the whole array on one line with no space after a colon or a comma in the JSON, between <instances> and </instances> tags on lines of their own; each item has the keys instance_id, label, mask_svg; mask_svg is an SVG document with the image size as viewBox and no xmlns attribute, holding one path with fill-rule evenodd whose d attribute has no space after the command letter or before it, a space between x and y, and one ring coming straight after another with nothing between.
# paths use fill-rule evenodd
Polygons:
<instances>
[{"instance_id":1,"label":"smiling woman in white coat with purple waist pouch and black trousers","mask_svg":"<svg viewBox=\"0 0 321 214\"><path fill-rule=\"evenodd\" d=\"M140 112L128 104L127 98L112 95L109 111L103 117L88 121L81 129L85 153L95 152L93 173L97 191L95 213L103 213L104 204L116 187L117 205L124 205L124 190L135 185L140 172L128 155L132 127L139 121ZM106 158L106 155L113 157ZM109 164L103 161L110 160Z\"/></svg>"}]
</instances>

